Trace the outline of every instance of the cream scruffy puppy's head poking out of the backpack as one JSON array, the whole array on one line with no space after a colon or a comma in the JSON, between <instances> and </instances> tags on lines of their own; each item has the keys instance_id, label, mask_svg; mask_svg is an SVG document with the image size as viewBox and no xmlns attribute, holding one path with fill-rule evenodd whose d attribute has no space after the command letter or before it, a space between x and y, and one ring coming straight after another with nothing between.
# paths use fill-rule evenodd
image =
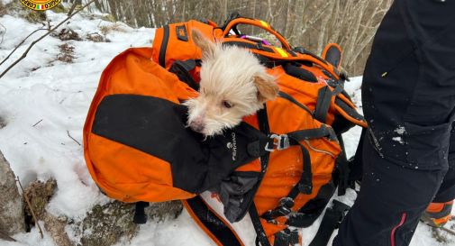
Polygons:
<instances>
[{"instance_id":1,"label":"cream scruffy puppy's head poking out of the backpack","mask_svg":"<svg viewBox=\"0 0 455 246\"><path fill-rule=\"evenodd\" d=\"M275 77L246 49L222 46L191 32L202 50L199 96L188 100L188 126L205 136L222 133L278 95Z\"/></svg>"}]
</instances>

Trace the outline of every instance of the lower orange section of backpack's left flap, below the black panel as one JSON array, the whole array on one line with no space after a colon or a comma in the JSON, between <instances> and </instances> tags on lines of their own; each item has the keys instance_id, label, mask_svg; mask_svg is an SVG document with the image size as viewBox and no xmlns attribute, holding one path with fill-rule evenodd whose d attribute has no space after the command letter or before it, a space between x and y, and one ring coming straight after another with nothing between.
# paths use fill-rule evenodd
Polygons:
<instances>
[{"instance_id":1,"label":"lower orange section of backpack's left flap, below the black panel","mask_svg":"<svg viewBox=\"0 0 455 246\"><path fill-rule=\"evenodd\" d=\"M88 145L88 154L97 160L96 165L90 165L90 174L107 196L123 202L164 202L195 196L172 187L170 165L162 159L96 134L90 134Z\"/></svg>"}]
</instances>

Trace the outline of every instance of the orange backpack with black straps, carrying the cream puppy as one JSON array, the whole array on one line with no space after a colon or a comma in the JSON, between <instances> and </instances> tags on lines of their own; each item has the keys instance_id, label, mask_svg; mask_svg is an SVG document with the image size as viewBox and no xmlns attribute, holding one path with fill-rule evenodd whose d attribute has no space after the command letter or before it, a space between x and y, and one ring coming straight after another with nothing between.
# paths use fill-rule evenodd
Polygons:
<instances>
[{"instance_id":1,"label":"orange backpack with black straps, carrying the cream puppy","mask_svg":"<svg viewBox=\"0 0 455 246\"><path fill-rule=\"evenodd\" d=\"M240 24L269 32L281 47L240 33ZM202 55L190 35L195 28L249 49L280 88L258 114L209 140L186 127L180 105L197 96ZM84 127L87 168L107 196L123 202L182 199L218 245L243 245L230 223L247 213L258 244L294 245L296 228L323 213L336 187L339 194L348 187L341 133L367 125L343 89L340 63L335 44L321 58L291 47L268 23L238 14L223 26L168 24L157 29L151 49L125 50L105 68ZM198 196L208 190L218 194L223 214ZM347 208L335 202L332 220Z\"/></svg>"}]
</instances>

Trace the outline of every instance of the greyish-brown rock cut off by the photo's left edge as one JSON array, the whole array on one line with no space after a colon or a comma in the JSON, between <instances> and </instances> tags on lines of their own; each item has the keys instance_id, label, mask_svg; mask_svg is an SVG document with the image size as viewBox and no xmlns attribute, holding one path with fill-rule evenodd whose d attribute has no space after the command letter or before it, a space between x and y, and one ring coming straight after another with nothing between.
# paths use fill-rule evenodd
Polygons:
<instances>
[{"instance_id":1,"label":"greyish-brown rock cut off by the photo's left edge","mask_svg":"<svg viewBox=\"0 0 455 246\"><path fill-rule=\"evenodd\" d=\"M0 152L0 231L12 235L25 231L23 196L19 194L14 173Z\"/></svg>"}]
</instances>

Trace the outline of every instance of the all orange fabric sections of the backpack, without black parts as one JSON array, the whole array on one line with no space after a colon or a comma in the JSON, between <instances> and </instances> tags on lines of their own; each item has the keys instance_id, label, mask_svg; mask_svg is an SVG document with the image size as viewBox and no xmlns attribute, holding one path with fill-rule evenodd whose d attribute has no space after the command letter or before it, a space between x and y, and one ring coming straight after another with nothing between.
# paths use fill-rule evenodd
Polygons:
<instances>
[{"instance_id":1,"label":"all orange fabric sections of the backpack, without black parts","mask_svg":"<svg viewBox=\"0 0 455 246\"><path fill-rule=\"evenodd\" d=\"M96 91L92 104L86 118L84 126L84 150L88 170L96 181L96 184L105 191L107 196L124 202L135 201L166 201L175 199L187 199L195 196L186 191L173 187L171 169L168 162L153 157L140 150L132 149L123 144L109 141L91 132L92 123L95 118L97 105L105 96L114 94L133 94L141 96L155 96L168 101L179 103L190 97L197 96L197 92L188 87L187 84L178 80L177 76L168 72L168 68L176 60L201 59L201 50L192 41L191 30L196 28L211 40L224 41L243 41L256 44L235 37L227 36L229 30L236 23L245 23L259 26L277 36L278 40L284 44L285 49L269 47L273 52L264 50L251 50L270 59L308 61L313 66L301 65L302 68L311 71L317 78L316 83L307 83L296 77L287 75L281 66L269 68L268 73L277 77L280 90L293 96L299 103L314 111L318 91L321 87L327 86L330 77L339 79L336 69L328 62L316 59L310 55L292 54L287 41L268 23L259 20L239 18L221 30L214 27L214 23L205 24L196 21L187 23L173 23L168 25L168 43L162 47L164 30L157 29L152 48L134 48L125 50L113 59L105 68L100 83ZM178 27L185 26L188 41L177 39ZM227 37L226 37L227 36ZM159 66L159 55L166 48L165 68ZM162 59L161 59L162 61ZM325 73L324 73L325 71ZM330 76L326 74L330 73ZM197 78L197 69L192 76ZM332 89L332 87L330 87ZM355 109L349 98L339 95L344 103ZM327 125L331 125L335 120L335 115L341 115L352 123L366 126L367 123L352 118L344 112L341 107L335 105L335 98L332 97L331 105L327 115ZM304 109L289 102L287 99L278 97L276 100L267 103L268 123L270 132L284 134L298 130L319 128L323 123L314 120L311 114ZM250 123L255 128L259 128L256 115L244 117L244 122ZM313 173L313 194L300 194L295 199L295 206L292 208L296 212L309 200L317 195L321 187L332 180L332 172L335 168L335 159L341 152L340 144L337 141L329 141L326 138L302 141L307 150L310 151ZM299 146L292 146L287 150L274 151L270 154L268 170L263 178L259 190L254 198L259 214L264 214L278 205L279 199L288 195L290 189L300 180L303 172L303 159ZM123 166L115 166L120 165ZM124 168L124 163L128 163L128 168ZM306 163L305 163L306 164ZM241 166L236 171L255 171L261 169L259 159ZM191 214L191 212L190 212ZM194 214L192 214L194 216ZM261 221L268 238L273 243L274 234L285 228L286 218L280 217L276 223ZM196 221L197 223L197 221ZM226 223L227 224L227 223ZM201 228L204 229L203 226ZM220 243L214 235L207 233L216 243ZM220 244L219 244L220 245Z\"/></svg>"}]
</instances>

